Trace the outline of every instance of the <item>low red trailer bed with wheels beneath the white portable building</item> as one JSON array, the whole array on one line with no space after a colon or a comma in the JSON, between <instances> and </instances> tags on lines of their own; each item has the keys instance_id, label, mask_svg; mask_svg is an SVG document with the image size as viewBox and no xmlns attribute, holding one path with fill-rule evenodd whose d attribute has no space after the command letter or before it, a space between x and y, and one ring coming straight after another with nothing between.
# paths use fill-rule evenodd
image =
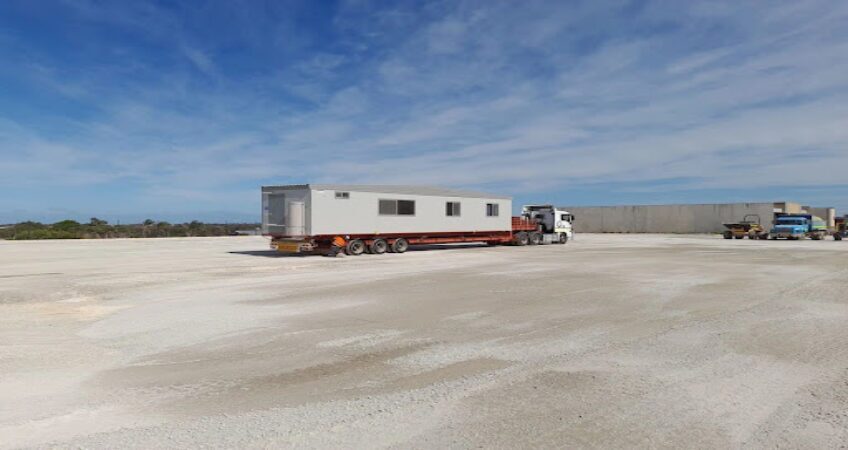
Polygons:
<instances>
[{"instance_id":1,"label":"low red trailer bed with wheels beneath the white portable building","mask_svg":"<svg viewBox=\"0 0 848 450\"><path fill-rule=\"evenodd\" d=\"M539 233L539 224L524 218L513 217L509 231L456 231L429 233L381 233L319 236L272 236L271 246L281 252L325 254L330 252L334 241L344 240L345 250L349 254L362 254L385 251L403 253L409 245L459 244L467 242L485 242L490 245L527 245L531 235ZM541 236L541 235L540 235ZM379 241L379 242L378 242ZM534 242L538 243L538 242Z\"/></svg>"}]
</instances>

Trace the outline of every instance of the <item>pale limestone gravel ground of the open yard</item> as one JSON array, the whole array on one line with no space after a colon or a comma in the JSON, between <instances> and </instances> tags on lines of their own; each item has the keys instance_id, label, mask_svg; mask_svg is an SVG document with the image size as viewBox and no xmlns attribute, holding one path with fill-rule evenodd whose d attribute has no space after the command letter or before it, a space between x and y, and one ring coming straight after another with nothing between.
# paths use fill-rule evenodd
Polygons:
<instances>
[{"instance_id":1,"label":"pale limestone gravel ground of the open yard","mask_svg":"<svg viewBox=\"0 0 848 450\"><path fill-rule=\"evenodd\" d=\"M0 446L848 442L848 245L0 242Z\"/></svg>"}]
</instances>

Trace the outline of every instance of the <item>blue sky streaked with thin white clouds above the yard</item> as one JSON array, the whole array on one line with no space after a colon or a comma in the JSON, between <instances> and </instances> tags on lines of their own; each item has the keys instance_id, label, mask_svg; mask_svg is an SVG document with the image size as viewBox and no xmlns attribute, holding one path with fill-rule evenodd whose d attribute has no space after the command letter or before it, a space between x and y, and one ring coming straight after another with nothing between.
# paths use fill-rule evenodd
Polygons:
<instances>
[{"instance_id":1,"label":"blue sky streaked with thin white clouds above the yard","mask_svg":"<svg viewBox=\"0 0 848 450\"><path fill-rule=\"evenodd\" d=\"M0 2L0 222L259 186L848 212L848 3Z\"/></svg>"}]
</instances>

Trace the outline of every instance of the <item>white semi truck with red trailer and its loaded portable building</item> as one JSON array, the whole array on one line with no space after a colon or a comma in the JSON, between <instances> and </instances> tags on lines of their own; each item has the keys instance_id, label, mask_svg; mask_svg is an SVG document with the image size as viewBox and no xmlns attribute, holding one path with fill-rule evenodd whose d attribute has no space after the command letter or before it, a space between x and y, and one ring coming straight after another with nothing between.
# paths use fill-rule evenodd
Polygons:
<instances>
[{"instance_id":1,"label":"white semi truck with red trailer and its loaded portable building","mask_svg":"<svg viewBox=\"0 0 848 450\"><path fill-rule=\"evenodd\" d=\"M262 187L262 234L282 253L404 253L410 246L478 242L565 244L574 216L553 205L423 186L299 184Z\"/></svg>"}]
</instances>

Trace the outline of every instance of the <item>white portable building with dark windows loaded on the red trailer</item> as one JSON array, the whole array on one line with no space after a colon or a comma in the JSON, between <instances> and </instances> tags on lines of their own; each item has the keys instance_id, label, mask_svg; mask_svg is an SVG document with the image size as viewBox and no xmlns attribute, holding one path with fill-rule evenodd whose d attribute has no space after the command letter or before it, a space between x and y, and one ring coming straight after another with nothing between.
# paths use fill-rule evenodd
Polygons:
<instances>
[{"instance_id":1,"label":"white portable building with dark windows loaded on the red trailer","mask_svg":"<svg viewBox=\"0 0 848 450\"><path fill-rule=\"evenodd\" d=\"M327 236L508 231L512 199L425 186L262 187L262 232Z\"/></svg>"}]
</instances>

